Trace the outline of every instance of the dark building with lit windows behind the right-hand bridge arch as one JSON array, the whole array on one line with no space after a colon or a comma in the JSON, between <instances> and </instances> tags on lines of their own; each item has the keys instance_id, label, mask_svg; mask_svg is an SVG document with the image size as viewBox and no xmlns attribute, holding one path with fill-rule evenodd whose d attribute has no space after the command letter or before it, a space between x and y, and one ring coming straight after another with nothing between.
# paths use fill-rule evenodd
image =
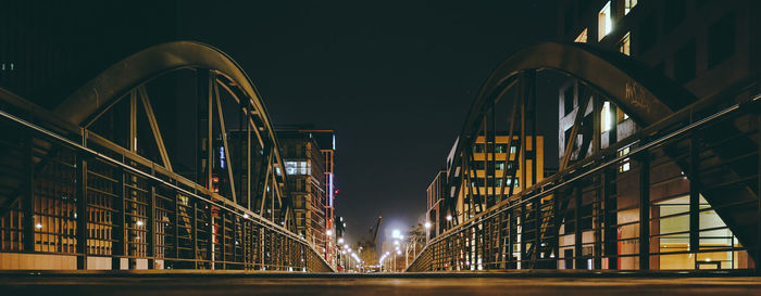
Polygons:
<instances>
[{"instance_id":1,"label":"dark building with lit windows behind the right-hand bridge arch","mask_svg":"<svg viewBox=\"0 0 761 296\"><path fill-rule=\"evenodd\" d=\"M653 72L663 74L675 83L682 85L698 100L718 94L729 94L726 104L740 102L759 90L759 69L761 38L754 28L760 26L752 12L759 11L758 1L637 1L637 0L588 0L564 1L559 7L558 34L562 41L585 43L595 49L619 52L643 63ZM600 123L600 134L596 129L578 132L569 153L571 162L584 158L592 152L589 143L599 137L600 149L606 149L636 132L639 127L633 118L619 108L611 100L591 90L578 79L570 78L559 90L559 157L566 155L565 150L572 134L574 119L578 112L584 112L583 125ZM588 102L581 106L581 102ZM691 103L691 102L687 102ZM599 118L595 118L598 117ZM619 156L625 156L636 144L619 150ZM606 253L617 257L604 260L603 269L635 269L643 265L650 269L699 269L699 268L749 268L752 260L746 252L733 252L743 246L727 228L725 222L710 210L711 205L700 194L699 218L690 227L689 181L685 172L665 155L653 156L648 164L658 164L649 168L651 176L659 176L657 182L649 184L650 252L661 254L650 256L649 262L639 262L639 258L628 257L639 248L633 239L640 229L631 221L639 219L639 162L625 158L617 165L616 188L613 204L617 233L608 233L606 237L616 241L607 245ZM676 177L666 177L673 171ZM679 176L681 173L681 176ZM695 198L695 197L693 197ZM610 204L609 204L610 205ZM581 205L582 213L591 213L594 205ZM573 207L573 206L572 206ZM609 209L606 209L609 210ZM574 234L570 226L560 230L560 245L574 244ZM581 239L584 245L595 242L591 223L582 223ZM687 233L689 232L689 233ZM696 233L691 233L696 232ZM697 240L694 237L698 235ZM578 237L578 236L577 236ZM606 239L608 240L608 239ZM690 241L693 240L693 241ZM698 242L698 245L690 245ZM727 249L708 252L709 249ZM561 248L559 268L579 267L584 260L562 260L591 256L591 247L575 254L572 247ZM575 266L576 265L576 266Z\"/></svg>"}]
</instances>

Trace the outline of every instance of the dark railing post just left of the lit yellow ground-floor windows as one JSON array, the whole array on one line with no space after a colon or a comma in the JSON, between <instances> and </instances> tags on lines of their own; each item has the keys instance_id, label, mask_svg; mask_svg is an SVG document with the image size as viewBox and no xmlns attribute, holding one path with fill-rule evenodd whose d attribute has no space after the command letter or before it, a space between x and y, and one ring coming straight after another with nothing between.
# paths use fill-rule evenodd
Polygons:
<instances>
[{"instance_id":1,"label":"dark railing post just left of the lit yellow ground-floor windows","mask_svg":"<svg viewBox=\"0 0 761 296\"><path fill-rule=\"evenodd\" d=\"M650 154L639 156L639 269L650 269Z\"/></svg>"}]
</instances>

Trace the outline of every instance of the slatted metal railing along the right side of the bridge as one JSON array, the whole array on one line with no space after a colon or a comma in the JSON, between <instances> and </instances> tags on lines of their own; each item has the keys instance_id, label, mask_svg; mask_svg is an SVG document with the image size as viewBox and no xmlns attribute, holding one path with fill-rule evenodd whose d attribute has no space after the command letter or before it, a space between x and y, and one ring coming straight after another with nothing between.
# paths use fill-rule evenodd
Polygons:
<instances>
[{"instance_id":1,"label":"slatted metal railing along the right side of the bridge","mask_svg":"<svg viewBox=\"0 0 761 296\"><path fill-rule=\"evenodd\" d=\"M407 271L752 268L759 102L682 110L448 229Z\"/></svg>"}]
</instances>

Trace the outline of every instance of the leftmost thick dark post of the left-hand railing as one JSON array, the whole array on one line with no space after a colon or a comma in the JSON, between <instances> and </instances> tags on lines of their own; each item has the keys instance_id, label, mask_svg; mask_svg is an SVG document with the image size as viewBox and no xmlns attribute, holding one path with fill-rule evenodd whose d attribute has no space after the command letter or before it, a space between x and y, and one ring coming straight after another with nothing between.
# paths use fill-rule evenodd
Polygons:
<instances>
[{"instance_id":1,"label":"leftmost thick dark post of the left-hand railing","mask_svg":"<svg viewBox=\"0 0 761 296\"><path fill-rule=\"evenodd\" d=\"M24 219L22 220L22 229L24 230L24 250L35 252L35 150L33 144L33 132L24 134L24 166L25 166L25 183L24 194L22 196L22 211ZM78 202L78 200L77 200ZM77 206L79 204L77 203ZM82 211L80 211L82 213ZM85 216L85 215L82 215ZM78 224L77 224L78 227ZM77 228L77 231L79 229ZM78 232L77 232L78 234ZM77 235L78 237L78 235ZM77 240L78 242L78 240ZM78 244L77 244L78 245ZM77 248L77 253L78 248Z\"/></svg>"}]
</instances>

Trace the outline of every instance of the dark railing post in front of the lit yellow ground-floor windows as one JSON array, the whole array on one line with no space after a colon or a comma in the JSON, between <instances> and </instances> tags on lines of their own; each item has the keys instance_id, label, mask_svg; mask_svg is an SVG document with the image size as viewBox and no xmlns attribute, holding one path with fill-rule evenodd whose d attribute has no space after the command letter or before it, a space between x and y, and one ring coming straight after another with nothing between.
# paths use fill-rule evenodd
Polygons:
<instances>
[{"instance_id":1,"label":"dark railing post in front of the lit yellow ground-floor windows","mask_svg":"<svg viewBox=\"0 0 761 296\"><path fill-rule=\"evenodd\" d=\"M700 150L698 139L689 140L689 252L700 250ZM693 260L698 269L697 258Z\"/></svg>"}]
</instances>

